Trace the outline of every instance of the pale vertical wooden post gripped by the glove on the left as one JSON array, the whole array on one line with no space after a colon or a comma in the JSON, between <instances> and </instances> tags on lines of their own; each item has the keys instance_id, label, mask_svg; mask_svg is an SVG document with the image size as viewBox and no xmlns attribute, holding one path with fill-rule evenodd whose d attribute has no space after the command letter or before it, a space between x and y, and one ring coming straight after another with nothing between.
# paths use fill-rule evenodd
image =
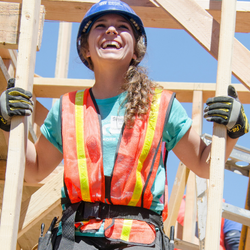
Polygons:
<instances>
[{"instance_id":1,"label":"pale vertical wooden post gripped by the glove on the left","mask_svg":"<svg viewBox=\"0 0 250 250\"><path fill-rule=\"evenodd\" d=\"M16 86L32 91L41 0L23 0ZM11 122L7 169L1 214L1 249L16 250L25 169L27 119Z\"/></svg>"}]
</instances>

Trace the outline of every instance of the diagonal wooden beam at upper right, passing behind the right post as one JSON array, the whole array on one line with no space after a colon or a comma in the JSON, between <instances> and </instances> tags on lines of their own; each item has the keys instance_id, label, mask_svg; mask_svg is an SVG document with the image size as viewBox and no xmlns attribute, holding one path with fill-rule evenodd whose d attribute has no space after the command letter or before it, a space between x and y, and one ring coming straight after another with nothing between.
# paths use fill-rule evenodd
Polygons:
<instances>
[{"instance_id":1,"label":"diagonal wooden beam at upper right, passing behind the right post","mask_svg":"<svg viewBox=\"0 0 250 250\"><path fill-rule=\"evenodd\" d=\"M156 0L213 57L218 59L219 23L194 0ZM232 71L250 90L250 51L236 38L233 42Z\"/></svg>"}]
</instances>

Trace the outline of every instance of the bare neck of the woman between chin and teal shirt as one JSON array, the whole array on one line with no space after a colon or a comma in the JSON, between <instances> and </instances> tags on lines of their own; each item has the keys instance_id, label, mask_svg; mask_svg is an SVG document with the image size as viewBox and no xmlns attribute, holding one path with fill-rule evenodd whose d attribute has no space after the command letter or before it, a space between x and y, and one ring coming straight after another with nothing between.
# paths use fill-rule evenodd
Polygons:
<instances>
[{"instance_id":1,"label":"bare neck of the woman between chin and teal shirt","mask_svg":"<svg viewBox=\"0 0 250 250\"><path fill-rule=\"evenodd\" d=\"M121 87L127 68L109 66L98 69L95 67L95 84L92 91L96 99L110 98L124 91Z\"/></svg>"}]
</instances>

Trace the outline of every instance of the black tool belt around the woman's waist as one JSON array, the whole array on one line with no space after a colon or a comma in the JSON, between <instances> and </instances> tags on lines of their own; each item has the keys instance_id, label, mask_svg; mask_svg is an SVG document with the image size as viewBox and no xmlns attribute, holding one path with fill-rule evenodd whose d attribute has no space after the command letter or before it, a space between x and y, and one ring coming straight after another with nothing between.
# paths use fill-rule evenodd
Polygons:
<instances>
[{"instance_id":1,"label":"black tool belt around the woman's waist","mask_svg":"<svg viewBox=\"0 0 250 250\"><path fill-rule=\"evenodd\" d=\"M83 201L75 204L67 203L65 205L66 210L63 212L61 219L62 239L58 250L73 249L75 244L75 222L91 219L100 220L100 222L105 219L105 223L111 221L112 223L110 223L107 230L113 226L116 219L130 219L147 222L154 227L159 228L164 238L162 217L149 209ZM43 238L46 238L46 235ZM51 239L53 239L53 237L51 237ZM43 243L43 245L47 245L47 243ZM49 245L53 245L53 243L50 243ZM47 248L38 249L47 250ZM52 250L53 248L49 249Z\"/></svg>"}]
</instances>

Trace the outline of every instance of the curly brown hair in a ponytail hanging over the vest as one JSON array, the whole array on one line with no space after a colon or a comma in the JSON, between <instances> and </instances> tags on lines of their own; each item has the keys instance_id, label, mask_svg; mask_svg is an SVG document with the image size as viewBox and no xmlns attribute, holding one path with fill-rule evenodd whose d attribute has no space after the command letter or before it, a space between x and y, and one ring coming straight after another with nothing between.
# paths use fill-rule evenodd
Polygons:
<instances>
[{"instance_id":1,"label":"curly brown hair in a ponytail hanging over the vest","mask_svg":"<svg viewBox=\"0 0 250 250\"><path fill-rule=\"evenodd\" d=\"M137 59L132 59L121 87L122 90L127 91L127 96L122 105L124 104L126 107L124 121L129 128L133 127L136 117L143 119L148 113L154 89L162 88L162 86L148 78L145 67L138 66L146 53L146 45L143 41L143 37L138 37L135 32L134 35L137 41L135 45ZM86 56L88 51L88 34L82 34L81 45L80 53L87 60L89 68L94 70L91 58Z\"/></svg>"}]
</instances>

